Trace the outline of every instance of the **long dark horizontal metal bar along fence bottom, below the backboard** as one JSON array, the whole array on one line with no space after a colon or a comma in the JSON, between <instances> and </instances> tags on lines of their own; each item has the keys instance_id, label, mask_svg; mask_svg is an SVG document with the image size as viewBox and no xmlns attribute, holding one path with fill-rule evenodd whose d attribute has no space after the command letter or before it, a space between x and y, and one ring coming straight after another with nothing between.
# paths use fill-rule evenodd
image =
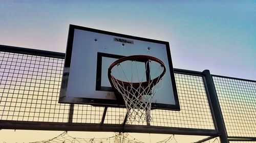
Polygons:
<instances>
[{"instance_id":1,"label":"long dark horizontal metal bar along fence bottom, below the backboard","mask_svg":"<svg viewBox=\"0 0 256 143\"><path fill-rule=\"evenodd\" d=\"M136 133L157 133L157 134L181 134L181 135L204 135L218 136L216 130L191 129L143 125L122 124L93 124L93 123L54 123L54 122L33 122L33 121L0 121L0 129L19 130L52 130L52 131L95 131L95 132L136 132Z\"/></svg>"}]
</instances>

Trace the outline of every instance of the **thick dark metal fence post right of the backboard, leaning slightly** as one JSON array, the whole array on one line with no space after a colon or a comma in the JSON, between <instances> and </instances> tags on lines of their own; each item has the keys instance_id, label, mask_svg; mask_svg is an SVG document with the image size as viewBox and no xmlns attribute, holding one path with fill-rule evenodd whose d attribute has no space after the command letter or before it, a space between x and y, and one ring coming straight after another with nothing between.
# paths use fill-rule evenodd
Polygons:
<instances>
[{"instance_id":1,"label":"thick dark metal fence post right of the backboard, leaning slightly","mask_svg":"<svg viewBox=\"0 0 256 143\"><path fill-rule=\"evenodd\" d=\"M205 77L206 87L207 87L208 94L210 97L210 103L212 105L212 110L214 112L214 117L215 117L215 121L217 124L217 130L220 133L221 143L226 143L226 142L228 143L229 141L227 139L227 131L226 131L226 127L224 124L224 119L222 116L217 93L215 90L214 80L212 79L209 70L204 70L203 75Z\"/></svg>"}]
</instances>

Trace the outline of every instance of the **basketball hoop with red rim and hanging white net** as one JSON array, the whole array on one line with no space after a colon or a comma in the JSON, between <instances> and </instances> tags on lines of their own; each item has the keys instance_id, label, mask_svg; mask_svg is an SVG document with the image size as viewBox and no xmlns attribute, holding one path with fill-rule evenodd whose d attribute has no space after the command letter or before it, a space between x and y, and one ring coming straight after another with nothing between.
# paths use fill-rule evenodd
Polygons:
<instances>
[{"instance_id":1,"label":"basketball hoop with red rim and hanging white net","mask_svg":"<svg viewBox=\"0 0 256 143\"><path fill-rule=\"evenodd\" d=\"M150 124L151 103L165 72L164 63L148 55L125 56L110 65L108 78L116 99L126 106L127 121Z\"/></svg>"}]
</instances>

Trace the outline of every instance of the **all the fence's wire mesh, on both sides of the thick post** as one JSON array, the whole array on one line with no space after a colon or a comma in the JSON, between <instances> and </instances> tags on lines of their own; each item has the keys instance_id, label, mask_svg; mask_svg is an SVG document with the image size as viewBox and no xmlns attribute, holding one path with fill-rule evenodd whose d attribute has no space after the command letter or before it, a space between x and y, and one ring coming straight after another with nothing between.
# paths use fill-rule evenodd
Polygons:
<instances>
[{"instance_id":1,"label":"all the fence's wire mesh, on both sides of the thick post","mask_svg":"<svg viewBox=\"0 0 256 143\"><path fill-rule=\"evenodd\" d=\"M126 108L75 104L70 117L71 105L58 103L63 64L64 57L0 51L0 121L123 124ZM256 82L212 78L228 136L255 137ZM216 130L203 76L176 72L175 80L181 110L152 110L150 126Z\"/></svg>"}]
</instances>

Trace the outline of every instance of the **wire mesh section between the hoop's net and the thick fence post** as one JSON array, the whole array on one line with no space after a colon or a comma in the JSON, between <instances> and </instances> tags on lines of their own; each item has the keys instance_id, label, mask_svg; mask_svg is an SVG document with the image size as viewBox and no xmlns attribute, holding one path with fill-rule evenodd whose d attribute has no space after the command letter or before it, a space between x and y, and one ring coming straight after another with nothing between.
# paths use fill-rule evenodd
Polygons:
<instances>
[{"instance_id":1,"label":"wire mesh section between the hoop's net and the thick fence post","mask_svg":"<svg viewBox=\"0 0 256 143\"><path fill-rule=\"evenodd\" d=\"M175 74L180 111L152 110L153 126L215 129L203 78Z\"/></svg>"}]
</instances>

